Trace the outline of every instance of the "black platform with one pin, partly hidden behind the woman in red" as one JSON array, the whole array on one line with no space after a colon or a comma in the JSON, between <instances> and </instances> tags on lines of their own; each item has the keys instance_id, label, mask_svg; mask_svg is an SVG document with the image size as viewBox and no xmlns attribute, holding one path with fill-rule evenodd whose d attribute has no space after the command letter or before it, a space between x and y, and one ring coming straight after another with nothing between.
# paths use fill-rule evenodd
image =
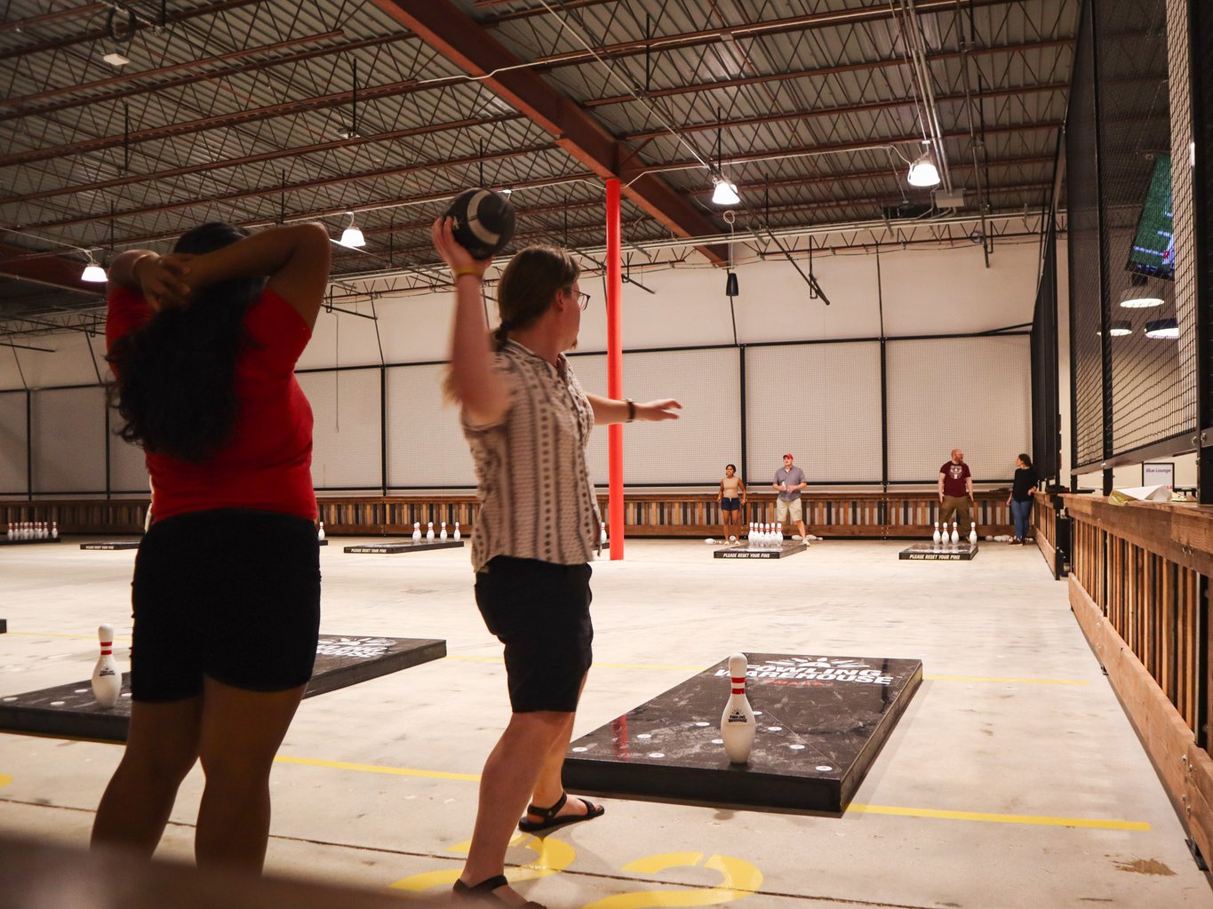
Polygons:
<instances>
[{"instance_id":1,"label":"black platform with one pin, partly hidden behind the woman in red","mask_svg":"<svg viewBox=\"0 0 1213 909\"><path fill-rule=\"evenodd\" d=\"M358 684L402 669L442 659L446 642L427 637L341 637L321 635L315 669L304 698ZM0 731L126 742L131 717L131 678L123 674L123 697L99 706L89 681L0 698Z\"/></svg>"}]
</instances>

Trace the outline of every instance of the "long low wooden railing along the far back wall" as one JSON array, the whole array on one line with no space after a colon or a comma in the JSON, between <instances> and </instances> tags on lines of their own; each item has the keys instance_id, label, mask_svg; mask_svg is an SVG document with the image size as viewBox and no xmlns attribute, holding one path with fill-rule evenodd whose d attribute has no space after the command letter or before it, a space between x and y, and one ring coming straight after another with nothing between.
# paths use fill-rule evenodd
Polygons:
<instances>
[{"instance_id":1,"label":"long low wooden railing along the far back wall","mask_svg":"<svg viewBox=\"0 0 1213 909\"><path fill-rule=\"evenodd\" d=\"M1010 533L1006 492L975 495L975 518L981 535ZM929 536L939 515L934 493L807 493L802 496L804 523L819 536ZM139 533L147 499L0 501L0 533L8 521L57 521L59 533ZM606 496L598 496L603 519ZM475 496L412 494L389 496L321 496L320 519L334 535L399 536L412 533L414 522L457 521L465 533L474 530ZM721 510L714 494L628 493L625 528L631 536L713 536L721 533ZM742 524L775 521L775 495L761 490L748 496ZM785 533L795 528L785 527ZM968 528L961 528L962 534Z\"/></svg>"}]
</instances>

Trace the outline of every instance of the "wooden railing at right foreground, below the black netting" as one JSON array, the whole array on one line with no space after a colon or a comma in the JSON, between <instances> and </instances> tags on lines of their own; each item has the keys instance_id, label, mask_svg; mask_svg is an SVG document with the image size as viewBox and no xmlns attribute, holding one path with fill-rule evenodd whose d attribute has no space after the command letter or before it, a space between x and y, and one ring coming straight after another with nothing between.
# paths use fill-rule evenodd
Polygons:
<instances>
[{"instance_id":1,"label":"wooden railing at right foreground, below the black netting","mask_svg":"<svg viewBox=\"0 0 1213 909\"><path fill-rule=\"evenodd\" d=\"M1065 495L1070 604L1208 859L1213 857L1208 603L1213 509Z\"/></svg>"}]
</instances>

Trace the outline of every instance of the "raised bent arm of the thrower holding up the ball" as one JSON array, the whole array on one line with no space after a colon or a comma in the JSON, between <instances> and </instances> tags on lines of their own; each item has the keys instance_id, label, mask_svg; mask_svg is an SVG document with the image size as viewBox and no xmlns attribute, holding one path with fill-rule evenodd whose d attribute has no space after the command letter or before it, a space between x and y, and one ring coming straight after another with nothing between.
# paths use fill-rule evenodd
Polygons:
<instances>
[{"instance_id":1,"label":"raised bent arm of the thrower holding up the ball","mask_svg":"<svg viewBox=\"0 0 1213 909\"><path fill-rule=\"evenodd\" d=\"M492 426L509 409L509 393L492 375L492 345L484 318L484 271L491 260L477 260L455 242L454 218L438 218L429 235L455 280L451 326L451 390L468 421Z\"/></svg>"}]
</instances>

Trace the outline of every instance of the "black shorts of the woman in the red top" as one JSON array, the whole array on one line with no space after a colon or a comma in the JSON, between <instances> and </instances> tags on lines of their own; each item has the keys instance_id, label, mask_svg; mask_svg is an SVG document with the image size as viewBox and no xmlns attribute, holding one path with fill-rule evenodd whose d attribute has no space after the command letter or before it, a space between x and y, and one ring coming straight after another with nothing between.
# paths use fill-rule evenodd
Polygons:
<instances>
[{"instance_id":1,"label":"black shorts of the woman in the red top","mask_svg":"<svg viewBox=\"0 0 1213 909\"><path fill-rule=\"evenodd\" d=\"M309 521L243 509L156 521L131 587L135 700L192 698L203 676L258 692L312 677L320 549Z\"/></svg>"}]
</instances>

